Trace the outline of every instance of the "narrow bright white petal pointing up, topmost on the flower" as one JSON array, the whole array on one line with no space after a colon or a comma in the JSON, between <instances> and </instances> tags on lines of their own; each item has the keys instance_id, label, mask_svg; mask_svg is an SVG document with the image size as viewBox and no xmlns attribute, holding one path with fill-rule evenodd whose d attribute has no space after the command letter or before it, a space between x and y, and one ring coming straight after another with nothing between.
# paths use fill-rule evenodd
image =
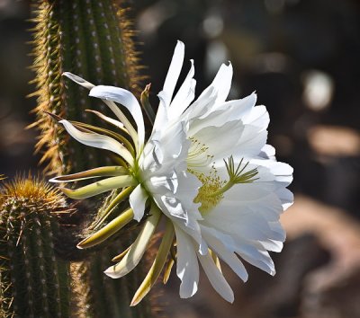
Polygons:
<instances>
[{"instance_id":1,"label":"narrow bright white petal pointing up, topmost on the flower","mask_svg":"<svg viewBox=\"0 0 360 318\"><path fill-rule=\"evenodd\" d=\"M175 85L179 78L181 68L183 67L183 62L184 62L184 43L178 40L174 50L173 58L171 60L169 69L167 71L163 90L160 93L162 98L164 99L166 107L170 105L171 99L174 94Z\"/></svg>"}]
</instances>

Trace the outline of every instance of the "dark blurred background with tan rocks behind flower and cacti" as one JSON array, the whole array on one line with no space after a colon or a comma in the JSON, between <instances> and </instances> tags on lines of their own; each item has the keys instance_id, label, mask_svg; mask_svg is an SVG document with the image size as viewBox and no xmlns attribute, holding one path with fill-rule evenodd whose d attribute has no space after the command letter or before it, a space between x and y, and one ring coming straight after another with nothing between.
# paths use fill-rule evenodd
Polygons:
<instances>
[{"instance_id":1,"label":"dark blurred background with tan rocks behind flower and cacti","mask_svg":"<svg viewBox=\"0 0 360 318\"><path fill-rule=\"evenodd\" d=\"M360 2L357 0L127 1L143 73L157 104L176 40L195 61L196 92L231 61L230 98L257 91L270 113L268 143L294 168L295 203L283 217L277 274L247 266L229 305L202 277L178 299L173 275L159 300L174 318L360 317ZM32 155L30 2L0 0L0 173L41 170ZM183 74L183 76L184 76ZM144 83L146 84L146 83Z\"/></svg>"}]
</instances>

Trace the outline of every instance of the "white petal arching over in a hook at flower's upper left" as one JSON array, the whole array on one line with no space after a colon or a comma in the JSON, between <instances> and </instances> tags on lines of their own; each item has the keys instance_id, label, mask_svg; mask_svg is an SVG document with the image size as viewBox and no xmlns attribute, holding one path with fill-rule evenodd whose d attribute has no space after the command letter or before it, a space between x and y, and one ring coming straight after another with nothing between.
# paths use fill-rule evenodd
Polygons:
<instances>
[{"instance_id":1,"label":"white petal arching over in a hook at flower's upper left","mask_svg":"<svg viewBox=\"0 0 360 318\"><path fill-rule=\"evenodd\" d=\"M136 97L129 91L114 86L95 86L89 93L89 96L101 98L106 101L119 102L130 111L138 127L139 147L144 145L145 127L141 107ZM112 110L114 111L114 110ZM116 115L116 113L115 113ZM125 124L125 123L124 123Z\"/></svg>"}]
</instances>

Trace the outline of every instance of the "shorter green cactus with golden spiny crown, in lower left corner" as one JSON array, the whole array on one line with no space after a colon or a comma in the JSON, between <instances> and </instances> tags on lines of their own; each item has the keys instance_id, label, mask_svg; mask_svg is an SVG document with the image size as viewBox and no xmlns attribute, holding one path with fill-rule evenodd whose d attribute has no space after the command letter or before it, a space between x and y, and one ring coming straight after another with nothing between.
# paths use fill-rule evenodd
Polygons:
<instances>
[{"instance_id":1,"label":"shorter green cactus with golden spiny crown, in lower left corner","mask_svg":"<svg viewBox=\"0 0 360 318\"><path fill-rule=\"evenodd\" d=\"M44 181L17 178L0 195L2 317L69 317L68 262L54 249L66 201Z\"/></svg>"}]
</instances>

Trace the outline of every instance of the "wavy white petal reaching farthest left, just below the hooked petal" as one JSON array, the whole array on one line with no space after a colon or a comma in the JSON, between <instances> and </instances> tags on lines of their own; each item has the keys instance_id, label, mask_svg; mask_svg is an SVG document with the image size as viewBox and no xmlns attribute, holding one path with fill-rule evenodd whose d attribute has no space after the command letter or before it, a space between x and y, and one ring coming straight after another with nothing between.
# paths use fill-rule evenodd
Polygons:
<instances>
[{"instance_id":1,"label":"wavy white petal reaching farthest left, just below the hooked petal","mask_svg":"<svg viewBox=\"0 0 360 318\"><path fill-rule=\"evenodd\" d=\"M106 149L112 151L117 155L121 155L130 165L133 165L133 158L130 155L128 149L121 145L121 143L117 142L112 137L103 136L95 133L85 133L83 131L75 128L70 122L67 120L59 120L59 123L64 125L64 128L67 129L67 132L74 137L78 142L86 145L86 146L94 146L95 148Z\"/></svg>"}]
</instances>

